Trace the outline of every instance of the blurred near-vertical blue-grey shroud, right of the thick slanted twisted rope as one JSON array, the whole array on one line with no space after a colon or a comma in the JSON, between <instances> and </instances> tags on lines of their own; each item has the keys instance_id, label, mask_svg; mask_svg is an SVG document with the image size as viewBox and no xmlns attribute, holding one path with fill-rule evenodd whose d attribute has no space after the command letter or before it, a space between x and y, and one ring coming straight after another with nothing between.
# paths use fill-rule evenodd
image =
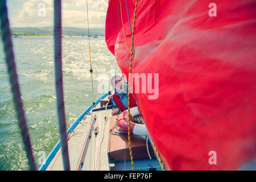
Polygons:
<instances>
[{"instance_id":1,"label":"blurred near-vertical blue-grey shroud, right of the thick slanted twisted rope","mask_svg":"<svg viewBox=\"0 0 256 182\"><path fill-rule=\"evenodd\" d=\"M61 0L54 0L54 62L57 115L59 119L60 144L63 156L63 166L65 171L69 171L70 165L68 156L67 126L64 107L61 37Z\"/></svg>"}]
</instances>

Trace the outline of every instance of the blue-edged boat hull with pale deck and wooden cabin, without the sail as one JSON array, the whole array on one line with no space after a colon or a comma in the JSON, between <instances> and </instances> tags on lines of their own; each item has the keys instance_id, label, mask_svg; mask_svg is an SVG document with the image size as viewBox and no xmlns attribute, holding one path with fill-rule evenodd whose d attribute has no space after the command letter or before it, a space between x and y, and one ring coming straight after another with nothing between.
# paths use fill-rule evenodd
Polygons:
<instances>
[{"instance_id":1,"label":"blue-edged boat hull with pale deck and wooden cabin, without the sail","mask_svg":"<svg viewBox=\"0 0 256 182\"><path fill-rule=\"evenodd\" d=\"M88 35L90 35L89 24ZM93 36L93 38L97 37ZM88 40L90 42L90 36ZM77 171L162 170L146 130L143 134L137 133L131 136L130 148L133 150L131 160L127 132L118 125L118 121L124 118L122 114L112 115L114 106L110 97L113 93L113 90L109 91L94 101L68 129L70 169ZM137 118L143 120L139 113ZM135 167L132 168L131 164ZM65 169L63 152L59 141L39 170L59 171L63 169Z\"/></svg>"}]
</instances>

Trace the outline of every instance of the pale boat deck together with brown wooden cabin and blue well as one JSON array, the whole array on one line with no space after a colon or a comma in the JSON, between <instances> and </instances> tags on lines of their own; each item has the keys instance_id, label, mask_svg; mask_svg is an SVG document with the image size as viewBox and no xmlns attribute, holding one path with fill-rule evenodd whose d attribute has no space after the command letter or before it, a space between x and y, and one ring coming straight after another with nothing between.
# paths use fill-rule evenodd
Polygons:
<instances>
[{"instance_id":1,"label":"pale boat deck together with brown wooden cabin and blue well","mask_svg":"<svg viewBox=\"0 0 256 182\"><path fill-rule=\"evenodd\" d=\"M108 97L102 102L106 100ZM102 103L98 103L68 136L69 162L72 171L77 169L78 164L80 164L79 170L82 171L131 170L127 134L110 134L109 131L116 122L117 116L112 116L112 107L107 110L104 107L100 110L103 108L101 106ZM86 141L88 145L84 147ZM152 159L148 157L146 137L132 135L131 143L135 170L161 170L150 144L148 149ZM83 148L85 152L82 152ZM80 160L82 153L85 156ZM61 148L59 148L46 170L62 171L63 169Z\"/></svg>"}]
</instances>

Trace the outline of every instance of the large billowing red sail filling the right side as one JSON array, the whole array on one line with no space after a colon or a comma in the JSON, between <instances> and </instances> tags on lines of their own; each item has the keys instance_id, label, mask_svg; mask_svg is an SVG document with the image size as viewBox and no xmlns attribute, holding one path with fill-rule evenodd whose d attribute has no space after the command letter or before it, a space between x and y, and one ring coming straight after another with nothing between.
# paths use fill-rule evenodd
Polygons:
<instances>
[{"instance_id":1,"label":"large billowing red sail filling the right side","mask_svg":"<svg viewBox=\"0 0 256 182\"><path fill-rule=\"evenodd\" d=\"M105 39L127 75L130 53L118 3L109 1ZM152 73L152 81L158 73L159 96L148 99L148 90L134 96L171 170L234 170L256 158L256 1L216 0L216 16L209 15L210 3L138 1L132 72ZM127 0L131 27L134 4Z\"/></svg>"}]
</instances>

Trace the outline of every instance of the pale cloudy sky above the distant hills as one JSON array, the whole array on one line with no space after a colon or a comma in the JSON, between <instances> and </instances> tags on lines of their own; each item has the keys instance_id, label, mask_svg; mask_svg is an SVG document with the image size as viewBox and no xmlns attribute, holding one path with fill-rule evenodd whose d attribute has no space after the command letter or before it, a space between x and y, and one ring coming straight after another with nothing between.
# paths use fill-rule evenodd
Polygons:
<instances>
[{"instance_id":1,"label":"pale cloudy sky above the distant hills","mask_svg":"<svg viewBox=\"0 0 256 182\"><path fill-rule=\"evenodd\" d=\"M1 1L1 0L0 0ZM53 26L53 0L8 0L11 27ZM63 26L87 27L86 0L63 0ZM108 0L88 0L89 26L105 27Z\"/></svg>"}]
</instances>

